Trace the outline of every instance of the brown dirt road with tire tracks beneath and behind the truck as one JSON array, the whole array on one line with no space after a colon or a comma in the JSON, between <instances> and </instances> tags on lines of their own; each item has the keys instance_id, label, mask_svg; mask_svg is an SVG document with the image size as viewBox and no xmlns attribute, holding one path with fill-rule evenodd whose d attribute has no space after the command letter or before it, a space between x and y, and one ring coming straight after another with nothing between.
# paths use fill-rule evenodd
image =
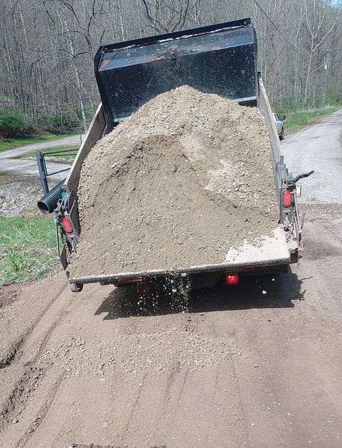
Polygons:
<instances>
[{"instance_id":1,"label":"brown dirt road with tire tracks beneath and behind the truck","mask_svg":"<svg viewBox=\"0 0 342 448\"><path fill-rule=\"evenodd\" d=\"M341 206L301 207L304 259L274 281L3 289L0 447L341 447Z\"/></svg>"}]
</instances>

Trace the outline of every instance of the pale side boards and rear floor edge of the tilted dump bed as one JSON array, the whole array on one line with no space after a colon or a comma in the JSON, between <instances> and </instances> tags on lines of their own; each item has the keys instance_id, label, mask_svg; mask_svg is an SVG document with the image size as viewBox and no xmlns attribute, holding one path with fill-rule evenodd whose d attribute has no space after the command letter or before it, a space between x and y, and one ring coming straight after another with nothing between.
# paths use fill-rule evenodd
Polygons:
<instances>
[{"instance_id":1,"label":"pale side boards and rear floor edge of the tilted dump bed","mask_svg":"<svg viewBox=\"0 0 342 448\"><path fill-rule=\"evenodd\" d=\"M258 80L260 97L258 105L264 114L267 127L269 129L270 151L272 154L272 162L274 167L274 181L279 185L286 186L291 176L288 174L283 163L283 156L280 149L279 138L272 120L271 109L267 100L267 95L262 84L262 80ZM256 106L257 107L257 106ZM100 105L95 114L92 126L85 137L85 141L78 152L78 156L74 161L73 167L68 178L65 181L65 188L72 193L75 188L75 183L80 176L80 168L85 156L89 153L96 139L101 137L100 122L105 126L105 117L102 112L102 105ZM97 136L97 137L96 137ZM87 144L87 142L90 142ZM280 188L282 189L282 188ZM294 195L293 195L294 196ZM283 210L280 194L277 195L279 203L279 210ZM294 197L294 201L295 197ZM289 210L287 210L287 213ZM284 213L284 212L283 212ZM129 282L143 282L146 279L166 277L170 275L187 274L193 278L193 284L200 286L208 286L212 281L223 277L225 273L237 272L240 275L245 274L264 274L273 272L284 272L288 265L297 262L299 255L299 248L301 247L301 224L298 219L298 210L296 205L292 210L292 223L289 228L285 228L284 224L274 223L276 230L273 235L269 235L262 240L260 245L254 246L245 243L239 250L230 249L225 254L225 262L216 265L196 265L196 266L181 266L177 269L160 269L160 270L146 270L140 272L111 272L104 275L93 275L85 277L69 278L70 284L96 283L101 284L127 284ZM286 219L286 215L284 215ZM290 218L288 218L290 219ZM213 275L215 274L215 275ZM201 277L199 279L198 277Z\"/></svg>"}]
</instances>

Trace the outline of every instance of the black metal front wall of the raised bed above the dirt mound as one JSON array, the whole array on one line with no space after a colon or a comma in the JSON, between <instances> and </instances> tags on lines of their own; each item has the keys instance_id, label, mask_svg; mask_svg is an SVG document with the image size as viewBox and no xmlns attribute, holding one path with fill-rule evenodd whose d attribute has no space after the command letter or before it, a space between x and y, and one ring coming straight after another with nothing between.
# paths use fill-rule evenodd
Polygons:
<instances>
[{"instance_id":1,"label":"black metal front wall of the raised bed above the dirt mound","mask_svg":"<svg viewBox=\"0 0 342 448\"><path fill-rule=\"evenodd\" d=\"M257 96L250 18L101 46L95 75L107 131L159 93L181 85L242 104Z\"/></svg>"}]
</instances>

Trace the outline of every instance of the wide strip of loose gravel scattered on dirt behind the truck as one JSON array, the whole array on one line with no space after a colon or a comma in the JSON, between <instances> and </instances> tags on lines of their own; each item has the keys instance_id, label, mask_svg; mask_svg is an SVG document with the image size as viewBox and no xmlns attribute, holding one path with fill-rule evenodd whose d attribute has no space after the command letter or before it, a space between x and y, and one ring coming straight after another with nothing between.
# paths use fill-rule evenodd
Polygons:
<instances>
[{"instance_id":1,"label":"wide strip of loose gravel scattered on dirt behind the truck","mask_svg":"<svg viewBox=\"0 0 342 448\"><path fill-rule=\"evenodd\" d=\"M134 375L142 370L163 373L177 360L179 368L210 368L236 353L229 338L189 334L171 329L154 333L117 334L111 341L85 342L67 338L46 350L41 363L62 369L67 378L114 373Z\"/></svg>"}]
</instances>

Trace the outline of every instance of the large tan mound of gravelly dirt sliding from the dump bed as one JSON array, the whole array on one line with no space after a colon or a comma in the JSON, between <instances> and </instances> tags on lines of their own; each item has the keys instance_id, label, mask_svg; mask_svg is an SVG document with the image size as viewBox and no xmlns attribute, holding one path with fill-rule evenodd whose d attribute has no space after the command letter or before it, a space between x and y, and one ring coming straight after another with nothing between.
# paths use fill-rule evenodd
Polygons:
<instances>
[{"instance_id":1,"label":"large tan mound of gravelly dirt sliding from the dump bed","mask_svg":"<svg viewBox=\"0 0 342 448\"><path fill-rule=\"evenodd\" d=\"M95 145L78 188L72 277L220 263L277 226L259 110L183 86Z\"/></svg>"}]
</instances>

